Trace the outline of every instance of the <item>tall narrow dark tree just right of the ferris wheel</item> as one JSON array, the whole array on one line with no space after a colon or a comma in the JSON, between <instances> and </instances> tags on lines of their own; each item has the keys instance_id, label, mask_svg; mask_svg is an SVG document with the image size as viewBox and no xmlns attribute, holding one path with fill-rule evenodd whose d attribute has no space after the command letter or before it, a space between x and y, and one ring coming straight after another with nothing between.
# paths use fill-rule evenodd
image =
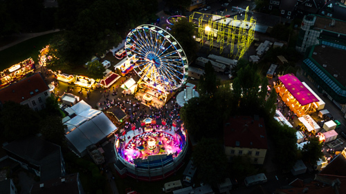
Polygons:
<instances>
[{"instance_id":1,"label":"tall narrow dark tree just right of the ferris wheel","mask_svg":"<svg viewBox=\"0 0 346 194\"><path fill-rule=\"evenodd\" d=\"M217 91L217 86L219 85L219 80L215 74L215 70L212 67L210 61L206 63L204 67L204 74L201 75L198 84L198 90L200 95L212 96Z\"/></svg>"}]
</instances>

